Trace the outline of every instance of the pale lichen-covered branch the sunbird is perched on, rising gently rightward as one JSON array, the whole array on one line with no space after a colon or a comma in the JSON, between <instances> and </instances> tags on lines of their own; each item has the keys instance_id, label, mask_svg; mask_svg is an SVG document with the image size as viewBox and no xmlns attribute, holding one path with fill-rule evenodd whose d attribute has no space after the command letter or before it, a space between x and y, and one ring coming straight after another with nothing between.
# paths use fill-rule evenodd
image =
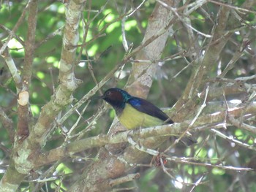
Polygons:
<instances>
[{"instance_id":1,"label":"pale lichen-covered branch the sunbird is perched on, rising gently rightward","mask_svg":"<svg viewBox=\"0 0 256 192\"><path fill-rule=\"evenodd\" d=\"M244 112L244 116L249 113L256 113L256 104L250 105L246 110L243 107L234 107L228 112L214 112L214 114L201 115L197 118L195 123L190 126L190 131L203 131L205 128L201 128L206 124L217 125L219 123L223 123L223 120L227 115L239 118L241 113ZM251 117L248 117L251 118ZM78 153L83 150L88 150L93 147L102 147L110 144L118 144L122 142L127 142L128 137L135 137L140 139L148 139L151 137L170 137L170 136L178 136L183 134L184 131L187 131L187 127L191 124L192 120L186 120L182 123L174 123L171 125L163 125L156 126L151 128L142 128L140 131L124 131L118 134L110 134L110 135L98 135L96 137L89 137L86 139L80 139L79 141L70 142L64 147L57 147L56 149L50 150L46 153L42 153L37 158L37 166L42 166L44 164L50 164L53 161L60 160L61 158L66 158L67 156L71 156L74 153ZM227 126L230 126L227 125ZM218 128L222 128L220 126ZM252 127L252 126L251 126ZM207 129L211 128L208 126ZM244 128L243 126L241 128ZM247 128L244 128L247 129ZM253 133L255 130L251 130ZM155 140L154 140L155 142ZM129 161L128 161L129 162Z\"/></svg>"}]
</instances>

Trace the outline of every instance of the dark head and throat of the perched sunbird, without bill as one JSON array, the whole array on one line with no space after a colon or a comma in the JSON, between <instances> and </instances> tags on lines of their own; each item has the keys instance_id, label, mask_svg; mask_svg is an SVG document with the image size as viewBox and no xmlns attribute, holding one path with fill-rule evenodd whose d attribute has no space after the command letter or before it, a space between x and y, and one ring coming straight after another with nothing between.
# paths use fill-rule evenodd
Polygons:
<instances>
[{"instance_id":1,"label":"dark head and throat of the perched sunbird, without bill","mask_svg":"<svg viewBox=\"0 0 256 192\"><path fill-rule=\"evenodd\" d=\"M124 109L125 103L131 98L132 96L127 93L127 91L124 91L120 88L110 88L103 96L101 96L101 99L104 99L107 101L112 107L117 109Z\"/></svg>"}]
</instances>

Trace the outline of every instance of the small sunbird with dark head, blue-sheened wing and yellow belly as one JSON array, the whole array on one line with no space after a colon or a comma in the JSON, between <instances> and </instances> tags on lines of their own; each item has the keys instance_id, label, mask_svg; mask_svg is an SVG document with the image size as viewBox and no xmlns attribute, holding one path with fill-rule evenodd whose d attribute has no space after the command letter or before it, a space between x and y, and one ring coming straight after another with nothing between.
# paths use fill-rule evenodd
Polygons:
<instances>
[{"instance_id":1,"label":"small sunbird with dark head, blue-sheened wing and yellow belly","mask_svg":"<svg viewBox=\"0 0 256 192\"><path fill-rule=\"evenodd\" d=\"M116 111L120 123L127 129L161 126L174 123L165 112L154 104L139 97L131 96L120 88L110 88L103 96L104 99ZM192 137L182 137L181 142L189 146L197 143Z\"/></svg>"}]
</instances>

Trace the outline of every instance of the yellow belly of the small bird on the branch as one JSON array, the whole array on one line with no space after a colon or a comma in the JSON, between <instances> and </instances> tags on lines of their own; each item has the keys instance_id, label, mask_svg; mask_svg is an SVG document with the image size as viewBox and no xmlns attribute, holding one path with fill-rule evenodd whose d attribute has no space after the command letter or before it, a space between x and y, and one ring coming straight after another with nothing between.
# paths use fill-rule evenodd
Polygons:
<instances>
[{"instance_id":1,"label":"yellow belly of the small bird on the branch","mask_svg":"<svg viewBox=\"0 0 256 192\"><path fill-rule=\"evenodd\" d=\"M130 104L126 104L118 119L127 129L160 126L163 123L163 120L159 118L154 118L151 115L135 110Z\"/></svg>"}]
</instances>

